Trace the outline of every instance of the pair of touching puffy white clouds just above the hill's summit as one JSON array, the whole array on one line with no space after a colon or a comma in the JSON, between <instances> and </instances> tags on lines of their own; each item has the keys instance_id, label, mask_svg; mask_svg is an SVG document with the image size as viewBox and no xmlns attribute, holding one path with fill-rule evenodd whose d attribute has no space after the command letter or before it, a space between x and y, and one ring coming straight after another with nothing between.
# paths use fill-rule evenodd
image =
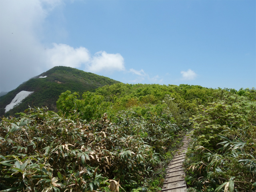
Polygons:
<instances>
[{"instance_id":1,"label":"pair of touching puffy white clouds just above the hill's summit","mask_svg":"<svg viewBox=\"0 0 256 192\"><path fill-rule=\"evenodd\" d=\"M113 72L123 71L124 58L120 54L108 54L100 51L90 55L84 47L73 48L66 44L53 44L53 48L47 49L48 64L53 66L69 66L80 68L85 65L86 72Z\"/></svg>"}]
</instances>

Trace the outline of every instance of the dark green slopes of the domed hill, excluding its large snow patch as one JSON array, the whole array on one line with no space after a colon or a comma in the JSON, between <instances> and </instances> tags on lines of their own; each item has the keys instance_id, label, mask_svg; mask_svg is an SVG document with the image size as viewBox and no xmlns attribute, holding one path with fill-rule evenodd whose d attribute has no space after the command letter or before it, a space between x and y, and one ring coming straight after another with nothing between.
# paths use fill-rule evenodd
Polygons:
<instances>
[{"instance_id":1,"label":"dark green slopes of the domed hill, excluding its large snow patch","mask_svg":"<svg viewBox=\"0 0 256 192\"><path fill-rule=\"evenodd\" d=\"M47 76L47 77L45 77ZM44 77L44 78L42 78ZM84 72L71 67L54 67L38 76L24 82L8 94L0 97L0 116L14 115L23 112L30 106L48 106L56 111L56 101L62 92L70 90L82 94L86 91L94 91L98 87L120 83L108 77L99 76L90 72ZM21 91L34 92L25 98L22 103L5 113L6 105Z\"/></svg>"}]
</instances>

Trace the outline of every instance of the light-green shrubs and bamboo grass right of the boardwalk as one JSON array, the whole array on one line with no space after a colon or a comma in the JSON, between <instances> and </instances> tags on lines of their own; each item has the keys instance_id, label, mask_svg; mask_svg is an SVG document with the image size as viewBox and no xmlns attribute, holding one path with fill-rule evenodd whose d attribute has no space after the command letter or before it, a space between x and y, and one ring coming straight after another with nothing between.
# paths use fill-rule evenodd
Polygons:
<instances>
[{"instance_id":1,"label":"light-green shrubs and bamboo grass right of the boardwalk","mask_svg":"<svg viewBox=\"0 0 256 192\"><path fill-rule=\"evenodd\" d=\"M224 90L191 118L186 181L197 191L255 191L256 102Z\"/></svg>"}]
</instances>

